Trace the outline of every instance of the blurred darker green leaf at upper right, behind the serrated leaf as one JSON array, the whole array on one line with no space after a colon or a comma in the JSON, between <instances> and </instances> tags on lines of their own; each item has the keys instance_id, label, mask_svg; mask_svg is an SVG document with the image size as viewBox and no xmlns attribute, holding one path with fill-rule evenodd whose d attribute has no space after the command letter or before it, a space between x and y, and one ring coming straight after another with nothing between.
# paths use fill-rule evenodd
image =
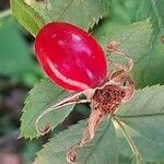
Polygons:
<instances>
[{"instance_id":1,"label":"blurred darker green leaf at upper right, behind the serrated leaf","mask_svg":"<svg viewBox=\"0 0 164 164\"><path fill-rule=\"evenodd\" d=\"M163 8L163 0L113 0L110 14L94 31L94 36L99 38L118 26L150 17L153 27L150 44L145 47L143 58L138 62L132 72L139 87L164 83Z\"/></svg>"}]
</instances>

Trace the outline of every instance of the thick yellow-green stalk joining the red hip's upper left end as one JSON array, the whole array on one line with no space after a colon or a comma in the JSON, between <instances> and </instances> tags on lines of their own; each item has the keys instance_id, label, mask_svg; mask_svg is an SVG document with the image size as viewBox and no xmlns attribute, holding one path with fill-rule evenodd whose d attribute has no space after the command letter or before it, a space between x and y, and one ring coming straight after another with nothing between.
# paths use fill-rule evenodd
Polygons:
<instances>
[{"instance_id":1,"label":"thick yellow-green stalk joining the red hip's upper left end","mask_svg":"<svg viewBox=\"0 0 164 164\"><path fill-rule=\"evenodd\" d=\"M36 35L45 23L42 17L31 9L24 0L10 0L13 15L32 34Z\"/></svg>"}]
</instances>

